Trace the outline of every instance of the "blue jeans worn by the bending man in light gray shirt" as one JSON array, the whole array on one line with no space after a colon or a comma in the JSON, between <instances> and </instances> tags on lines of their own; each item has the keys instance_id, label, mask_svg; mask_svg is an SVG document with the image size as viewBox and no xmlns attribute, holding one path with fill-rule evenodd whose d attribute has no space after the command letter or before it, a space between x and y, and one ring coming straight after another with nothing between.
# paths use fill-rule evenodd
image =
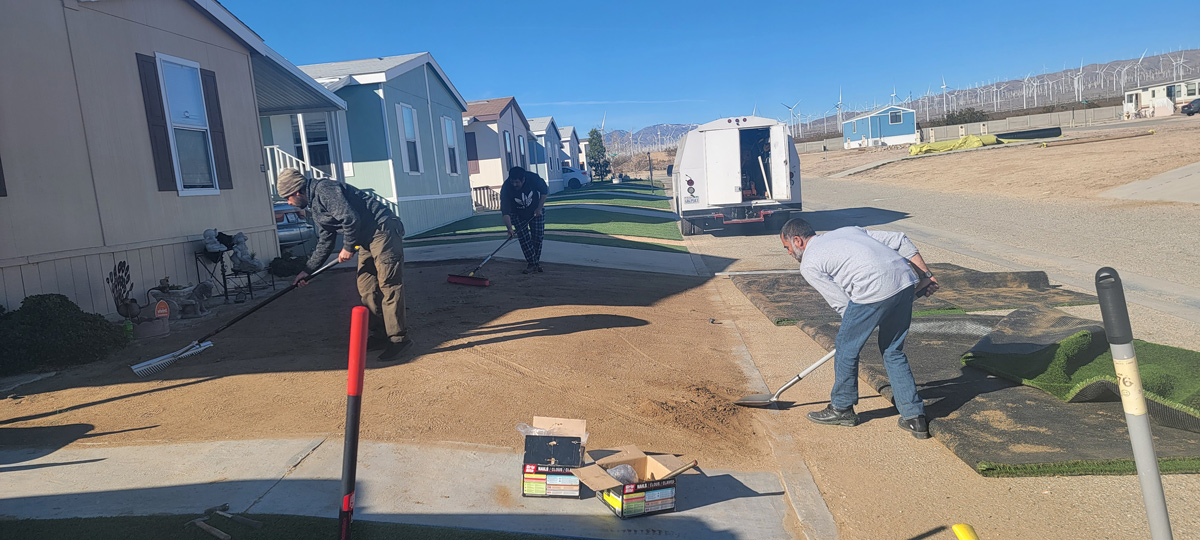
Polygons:
<instances>
[{"instance_id":1,"label":"blue jeans worn by the bending man in light gray shirt","mask_svg":"<svg viewBox=\"0 0 1200 540\"><path fill-rule=\"evenodd\" d=\"M883 367L892 383L892 400L900 410L900 418L911 419L925 414L925 406L917 395L917 382L908 368L908 356L904 354L904 341L912 323L913 288L875 304L846 306L841 316L841 329L835 341L838 353L833 356L834 382L829 402L839 409L858 403L858 354L880 329L880 353Z\"/></svg>"}]
</instances>

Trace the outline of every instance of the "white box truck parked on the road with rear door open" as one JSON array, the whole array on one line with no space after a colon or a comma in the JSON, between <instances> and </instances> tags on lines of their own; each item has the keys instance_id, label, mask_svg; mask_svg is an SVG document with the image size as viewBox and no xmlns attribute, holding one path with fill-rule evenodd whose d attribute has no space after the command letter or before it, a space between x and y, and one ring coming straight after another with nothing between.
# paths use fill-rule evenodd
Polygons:
<instances>
[{"instance_id":1,"label":"white box truck parked on the road with rear door open","mask_svg":"<svg viewBox=\"0 0 1200 540\"><path fill-rule=\"evenodd\" d=\"M722 118L688 132L667 170L684 236L730 223L779 228L800 210L800 160L787 126Z\"/></svg>"}]
</instances>

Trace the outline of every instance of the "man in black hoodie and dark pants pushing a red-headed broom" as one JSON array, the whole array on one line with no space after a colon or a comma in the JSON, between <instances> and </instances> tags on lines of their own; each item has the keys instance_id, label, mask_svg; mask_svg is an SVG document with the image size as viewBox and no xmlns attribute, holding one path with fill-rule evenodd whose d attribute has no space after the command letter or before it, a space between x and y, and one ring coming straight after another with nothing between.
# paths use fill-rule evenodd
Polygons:
<instances>
[{"instance_id":1,"label":"man in black hoodie and dark pants pushing a red-headed broom","mask_svg":"<svg viewBox=\"0 0 1200 540\"><path fill-rule=\"evenodd\" d=\"M509 238L516 236L521 242L521 252L528 264L522 274L542 271L541 240L546 233L546 216L541 208L546 204L547 193L550 186L546 181L521 167L509 169L509 178L500 187L504 226L509 229ZM514 221L517 223L514 224Z\"/></svg>"}]
</instances>

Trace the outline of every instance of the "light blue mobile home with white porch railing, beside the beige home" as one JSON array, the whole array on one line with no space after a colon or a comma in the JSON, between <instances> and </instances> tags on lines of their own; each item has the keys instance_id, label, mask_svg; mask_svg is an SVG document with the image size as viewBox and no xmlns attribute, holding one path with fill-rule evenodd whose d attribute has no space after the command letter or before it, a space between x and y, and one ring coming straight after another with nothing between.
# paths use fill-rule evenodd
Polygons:
<instances>
[{"instance_id":1,"label":"light blue mobile home with white porch railing, beside the beige home","mask_svg":"<svg viewBox=\"0 0 1200 540\"><path fill-rule=\"evenodd\" d=\"M296 167L371 190L408 234L474 214L462 126L467 101L432 55L299 67L342 98L346 110L263 119L269 169Z\"/></svg>"}]
</instances>

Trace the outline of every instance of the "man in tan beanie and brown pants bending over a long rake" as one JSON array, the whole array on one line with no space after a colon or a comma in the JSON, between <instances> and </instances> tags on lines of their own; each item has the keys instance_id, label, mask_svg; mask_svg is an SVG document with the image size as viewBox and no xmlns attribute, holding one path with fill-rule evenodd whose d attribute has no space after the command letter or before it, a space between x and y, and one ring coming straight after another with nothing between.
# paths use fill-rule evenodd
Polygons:
<instances>
[{"instance_id":1,"label":"man in tan beanie and brown pants bending over a long rake","mask_svg":"<svg viewBox=\"0 0 1200 540\"><path fill-rule=\"evenodd\" d=\"M296 169L284 169L276 181L280 197L307 208L319 229L317 247L293 283L305 286L308 275L325 264L334 241L342 235L337 262L354 257L358 247L358 286L362 305L371 310L368 348L383 348L379 360L394 360L413 340L404 324L404 224L374 197L334 180L308 180Z\"/></svg>"}]
</instances>

